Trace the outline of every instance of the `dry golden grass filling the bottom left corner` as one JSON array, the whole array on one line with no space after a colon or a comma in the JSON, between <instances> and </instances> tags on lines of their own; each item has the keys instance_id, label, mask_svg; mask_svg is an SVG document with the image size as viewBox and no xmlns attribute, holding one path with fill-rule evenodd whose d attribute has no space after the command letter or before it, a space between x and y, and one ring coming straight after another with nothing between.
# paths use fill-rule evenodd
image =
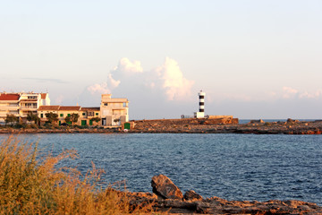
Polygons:
<instances>
[{"instance_id":1,"label":"dry golden grass filling the bottom left corner","mask_svg":"<svg viewBox=\"0 0 322 215\"><path fill-rule=\"evenodd\" d=\"M0 214L150 214L152 205L131 209L125 193L97 183L101 170L80 176L74 168L55 168L74 150L39 157L36 143L13 136L0 145ZM83 178L83 179L80 179Z\"/></svg>"}]
</instances>

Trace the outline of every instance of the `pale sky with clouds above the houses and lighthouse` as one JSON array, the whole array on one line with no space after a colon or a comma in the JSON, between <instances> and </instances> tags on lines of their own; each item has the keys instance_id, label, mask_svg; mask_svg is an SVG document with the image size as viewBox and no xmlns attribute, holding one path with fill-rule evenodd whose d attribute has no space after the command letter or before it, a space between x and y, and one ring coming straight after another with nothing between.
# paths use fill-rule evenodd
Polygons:
<instances>
[{"instance_id":1,"label":"pale sky with clouds above the houses and lighthouse","mask_svg":"<svg viewBox=\"0 0 322 215\"><path fill-rule=\"evenodd\" d=\"M51 105L130 100L130 119L199 109L322 118L322 1L0 0L0 91Z\"/></svg>"}]
</instances>

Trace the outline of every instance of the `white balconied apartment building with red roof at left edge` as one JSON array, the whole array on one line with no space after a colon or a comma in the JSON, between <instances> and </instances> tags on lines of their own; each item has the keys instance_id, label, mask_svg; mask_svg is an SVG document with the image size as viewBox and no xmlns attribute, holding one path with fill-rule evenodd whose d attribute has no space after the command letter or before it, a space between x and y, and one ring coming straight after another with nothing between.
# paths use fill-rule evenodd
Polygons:
<instances>
[{"instance_id":1,"label":"white balconied apartment building with red roof at left edge","mask_svg":"<svg viewBox=\"0 0 322 215\"><path fill-rule=\"evenodd\" d=\"M7 115L26 120L28 113L37 114L38 107L42 105L50 105L48 93L0 93L0 122Z\"/></svg>"}]
</instances>

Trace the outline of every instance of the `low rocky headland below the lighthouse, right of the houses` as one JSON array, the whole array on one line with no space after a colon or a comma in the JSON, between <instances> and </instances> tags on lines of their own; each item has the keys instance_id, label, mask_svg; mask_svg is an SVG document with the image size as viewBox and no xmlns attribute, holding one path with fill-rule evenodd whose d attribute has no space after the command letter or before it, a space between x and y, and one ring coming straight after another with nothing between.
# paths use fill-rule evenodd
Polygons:
<instances>
[{"instance_id":1,"label":"low rocky headland below the lighthouse, right of the houses","mask_svg":"<svg viewBox=\"0 0 322 215\"><path fill-rule=\"evenodd\" d=\"M238 124L238 119L225 122L211 119L160 119L133 121L131 133L255 133L255 134L321 134L322 121L303 122L288 119L286 122L252 120Z\"/></svg>"}]
</instances>

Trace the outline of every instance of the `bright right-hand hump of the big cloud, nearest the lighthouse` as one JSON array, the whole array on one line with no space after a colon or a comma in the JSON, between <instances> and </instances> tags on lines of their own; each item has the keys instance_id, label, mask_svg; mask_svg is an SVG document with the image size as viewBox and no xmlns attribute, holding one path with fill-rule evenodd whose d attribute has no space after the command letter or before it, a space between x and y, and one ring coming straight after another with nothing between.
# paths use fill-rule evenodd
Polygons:
<instances>
[{"instance_id":1,"label":"bright right-hand hump of the big cloud, nearest the lighthouse","mask_svg":"<svg viewBox=\"0 0 322 215\"><path fill-rule=\"evenodd\" d=\"M183 77L180 67L174 59L165 58L165 64L156 70L159 78L163 81L162 88L165 90L167 99L186 99L191 96L193 81Z\"/></svg>"}]
</instances>

